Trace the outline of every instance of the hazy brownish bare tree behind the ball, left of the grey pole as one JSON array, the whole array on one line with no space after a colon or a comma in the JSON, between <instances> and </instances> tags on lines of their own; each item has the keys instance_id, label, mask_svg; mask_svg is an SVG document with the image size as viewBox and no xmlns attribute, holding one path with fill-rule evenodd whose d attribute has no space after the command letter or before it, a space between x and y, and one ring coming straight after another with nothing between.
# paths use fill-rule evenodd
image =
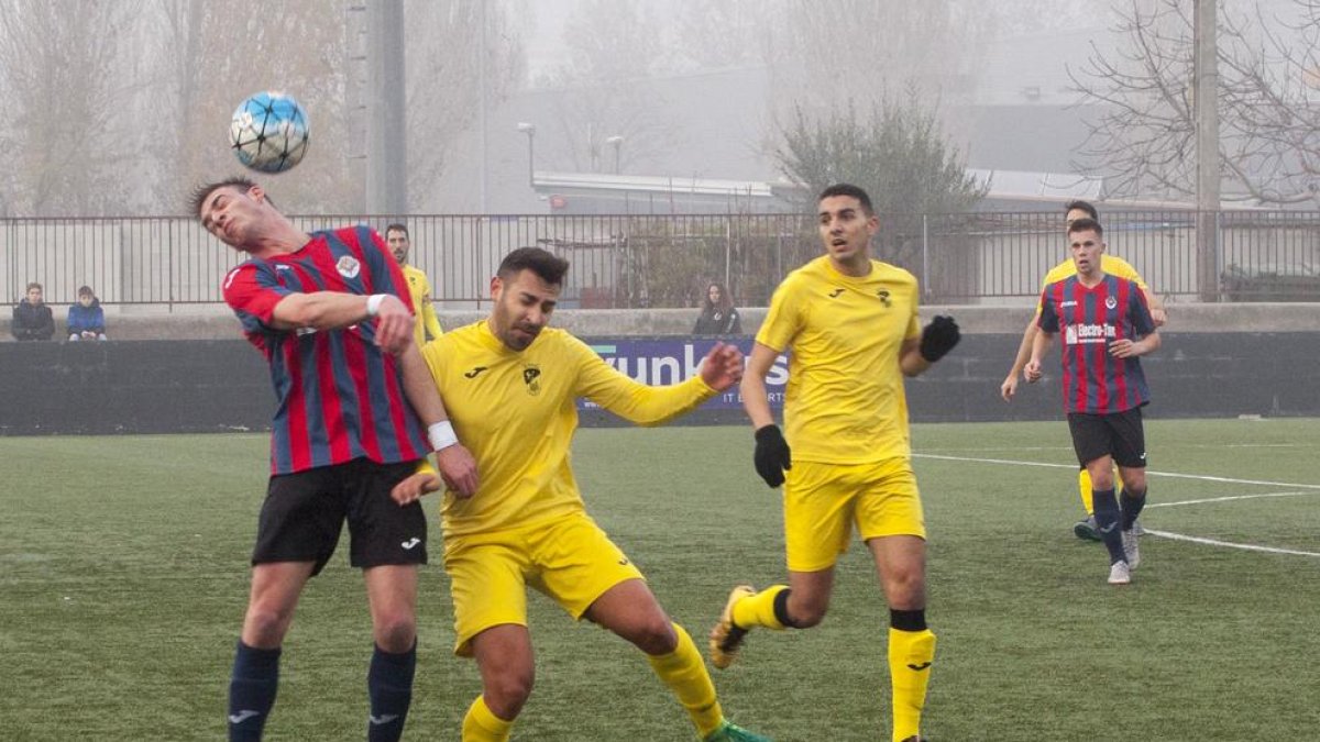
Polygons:
<instances>
[{"instance_id":1,"label":"hazy brownish bare tree behind the ball, left of the grey pole","mask_svg":"<svg viewBox=\"0 0 1320 742\"><path fill-rule=\"evenodd\" d=\"M75 0L77 1L77 0ZM312 120L312 143L297 176L263 181L289 211L350 211L360 180L348 158L345 99L346 22L321 0L157 0L144 55L154 51L150 98L140 106L174 124L154 132L157 207L178 213L198 182L239 169L228 149L234 108L261 90L298 99Z\"/></svg>"}]
</instances>

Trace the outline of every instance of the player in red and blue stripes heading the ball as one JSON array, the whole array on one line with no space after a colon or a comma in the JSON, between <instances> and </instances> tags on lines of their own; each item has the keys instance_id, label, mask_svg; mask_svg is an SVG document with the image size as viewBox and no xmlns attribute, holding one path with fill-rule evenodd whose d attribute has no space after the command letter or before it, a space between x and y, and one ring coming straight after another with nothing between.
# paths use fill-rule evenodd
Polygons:
<instances>
[{"instance_id":1,"label":"player in red and blue stripes heading the ball","mask_svg":"<svg viewBox=\"0 0 1320 742\"><path fill-rule=\"evenodd\" d=\"M391 490L430 448L459 491L478 483L413 345L403 273L380 235L367 227L306 234L247 178L199 187L193 209L207 231L249 256L224 277L224 301L271 364L279 401L228 737L261 738L298 595L347 520L375 639L367 739L399 739L412 700L426 519L416 504L400 507Z\"/></svg>"}]
</instances>

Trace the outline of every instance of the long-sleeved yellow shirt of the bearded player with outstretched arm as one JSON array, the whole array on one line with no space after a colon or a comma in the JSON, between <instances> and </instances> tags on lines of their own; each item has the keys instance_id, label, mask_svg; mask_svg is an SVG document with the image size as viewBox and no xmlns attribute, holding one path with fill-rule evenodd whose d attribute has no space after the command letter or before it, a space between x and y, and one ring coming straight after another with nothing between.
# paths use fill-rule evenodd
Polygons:
<instances>
[{"instance_id":1,"label":"long-sleeved yellow shirt of the bearded player with outstretched arm","mask_svg":"<svg viewBox=\"0 0 1320 742\"><path fill-rule=\"evenodd\" d=\"M446 536L585 512L569 466L577 397L632 422L659 425L715 395L700 375L668 387L639 384L553 327L519 353L482 320L441 335L422 355L480 478L471 498L445 492Z\"/></svg>"}]
</instances>

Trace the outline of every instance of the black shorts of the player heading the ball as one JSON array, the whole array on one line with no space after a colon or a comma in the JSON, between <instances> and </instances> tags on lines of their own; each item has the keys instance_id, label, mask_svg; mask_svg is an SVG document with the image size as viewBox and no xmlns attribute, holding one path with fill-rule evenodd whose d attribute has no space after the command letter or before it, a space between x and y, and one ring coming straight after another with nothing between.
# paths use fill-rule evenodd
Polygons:
<instances>
[{"instance_id":1,"label":"black shorts of the player heading the ball","mask_svg":"<svg viewBox=\"0 0 1320 742\"><path fill-rule=\"evenodd\" d=\"M317 574L339 544L348 520L348 564L426 564L426 515L421 503L399 507L389 490L416 462L356 458L271 477L256 529L252 564L314 561Z\"/></svg>"}]
</instances>

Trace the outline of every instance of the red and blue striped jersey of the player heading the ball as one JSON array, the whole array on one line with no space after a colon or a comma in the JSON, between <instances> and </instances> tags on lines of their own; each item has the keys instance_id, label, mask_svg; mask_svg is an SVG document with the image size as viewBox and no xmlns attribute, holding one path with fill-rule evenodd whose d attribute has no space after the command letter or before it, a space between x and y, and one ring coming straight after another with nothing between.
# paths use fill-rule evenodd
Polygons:
<instances>
[{"instance_id":1,"label":"red and blue striped jersey of the player heading the ball","mask_svg":"<svg viewBox=\"0 0 1320 742\"><path fill-rule=\"evenodd\" d=\"M375 322L339 330L279 330L275 306L293 293L389 293L412 308L408 281L366 226L312 234L297 252L252 259L224 277L224 301L271 364L279 407L271 471L289 474L370 458L412 461L430 449L403 391L399 360L374 343Z\"/></svg>"}]
</instances>

